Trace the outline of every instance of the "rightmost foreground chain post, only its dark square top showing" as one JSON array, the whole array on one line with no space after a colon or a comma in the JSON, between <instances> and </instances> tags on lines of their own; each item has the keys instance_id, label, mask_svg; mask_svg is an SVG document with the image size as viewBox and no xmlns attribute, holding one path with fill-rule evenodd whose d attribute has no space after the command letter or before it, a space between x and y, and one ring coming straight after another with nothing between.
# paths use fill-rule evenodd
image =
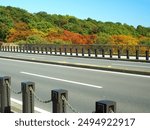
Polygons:
<instances>
[{"instance_id":1,"label":"rightmost foreground chain post, only its dark square top showing","mask_svg":"<svg viewBox=\"0 0 150 130\"><path fill-rule=\"evenodd\" d=\"M111 100L97 101L95 108L95 113L116 113L116 102Z\"/></svg>"}]
</instances>

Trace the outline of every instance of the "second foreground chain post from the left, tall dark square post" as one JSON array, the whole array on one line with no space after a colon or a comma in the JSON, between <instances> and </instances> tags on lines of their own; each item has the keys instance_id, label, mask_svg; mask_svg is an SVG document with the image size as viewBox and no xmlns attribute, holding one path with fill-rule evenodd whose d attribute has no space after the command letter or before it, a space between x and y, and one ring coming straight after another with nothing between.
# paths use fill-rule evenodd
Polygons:
<instances>
[{"instance_id":1,"label":"second foreground chain post from the left, tall dark square post","mask_svg":"<svg viewBox=\"0 0 150 130\"><path fill-rule=\"evenodd\" d=\"M34 82L22 82L21 90L22 90L22 112L23 113L34 113L34 94L30 90L35 91L35 83Z\"/></svg>"}]
</instances>

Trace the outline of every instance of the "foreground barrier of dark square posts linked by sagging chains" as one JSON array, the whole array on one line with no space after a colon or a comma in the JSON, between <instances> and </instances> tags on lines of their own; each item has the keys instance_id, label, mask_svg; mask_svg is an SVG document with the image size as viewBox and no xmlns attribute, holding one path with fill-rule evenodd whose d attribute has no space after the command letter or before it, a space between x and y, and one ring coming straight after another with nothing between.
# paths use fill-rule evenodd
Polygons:
<instances>
[{"instance_id":1,"label":"foreground barrier of dark square posts linked by sagging chains","mask_svg":"<svg viewBox=\"0 0 150 130\"><path fill-rule=\"evenodd\" d=\"M16 92L11 87L11 77L3 76L0 77L0 112L11 113L11 101L10 93L22 94L22 112L23 113L34 113L34 98L41 103L52 102L53 113L66 113L67 107L72 112L78 113L78 111L72 107L68 101L68 91L63 89L55 89L51 91L51 99L41 100L40 97L35 93L34 82L21 82L21 91ZM95 113L114 113L116 112L116 102L110 100L100 100L95 102Z\"/></svg>"}]
</instances>

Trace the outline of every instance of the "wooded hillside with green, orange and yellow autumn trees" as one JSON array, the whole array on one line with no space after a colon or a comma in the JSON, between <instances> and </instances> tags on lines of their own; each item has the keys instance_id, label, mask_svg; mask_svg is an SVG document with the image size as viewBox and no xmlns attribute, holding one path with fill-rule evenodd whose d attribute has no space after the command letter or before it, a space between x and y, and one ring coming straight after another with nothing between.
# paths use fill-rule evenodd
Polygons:
<instances>
[{"instance_id":1,"label":"wooded hillside with green, orange and yellow autumn trees","mask_svg":"<svg viewBox=\"0 0 150 130\"><path fill-rule=\"evenodd\" d=\"M150 28L85 20L74 16L29 13L0 6L0 41L9 43L150 45Z\"/></svg>"}]
</instances>

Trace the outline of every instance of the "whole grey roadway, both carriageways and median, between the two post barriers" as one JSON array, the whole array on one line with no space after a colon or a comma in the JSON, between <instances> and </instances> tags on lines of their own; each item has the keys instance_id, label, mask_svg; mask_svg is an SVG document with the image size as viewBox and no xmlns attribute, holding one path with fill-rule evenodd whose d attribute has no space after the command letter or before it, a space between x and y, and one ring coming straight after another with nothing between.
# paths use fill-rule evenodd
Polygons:
<instances>
[{"instance_id":1,"label":"whole grey roadway, both carriageways and median, between the two post barriers","mask_svg":"<svg viewBox=\"0 0 150 130\"><path fill-rule=\"evenodd\" d=\"M37 95L42 99L49 98L52 89L68 90L69 102L79 112L91 113L95 110L95 101L103 99L116 101L119 113L150 112L149 62L131 62L131 58L108 60L41 55L41 50L41 54L30 54L27 50L17 53L17 49L12 53L10 50L4 48L0 52L0 74L12 77L14 90L20 90L21 81L32 80L36 83ZM149 57L147 52L145 54ZM149 58L144 60L149 61ZM12 94L11 97L21 100L20 95ZM35 104L38 108L52 111L51 104L38 101ZM67 111L72 112L70 109Z\"/></svg>"}]
</instances>

